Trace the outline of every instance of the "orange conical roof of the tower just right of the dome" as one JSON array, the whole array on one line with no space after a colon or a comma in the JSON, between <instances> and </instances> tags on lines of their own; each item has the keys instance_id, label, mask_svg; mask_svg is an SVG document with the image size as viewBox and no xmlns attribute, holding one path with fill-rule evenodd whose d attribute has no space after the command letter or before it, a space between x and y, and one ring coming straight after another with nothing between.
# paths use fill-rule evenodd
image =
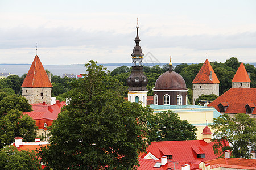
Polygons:
<instances>
[{"instance_id":1,"label":"orange conical roof of the tower just right of the dome","mask_svg":"<svg viewBox=\"0 0 256 170\"><path fill-rule=\"evenodd\" d=\"M210 71L212 71L212 80L210 80ZM205 60L203 66L197 73L192 83L193 84L219 84L220 83L208 59Z\"/></svg>"}]
</instances>

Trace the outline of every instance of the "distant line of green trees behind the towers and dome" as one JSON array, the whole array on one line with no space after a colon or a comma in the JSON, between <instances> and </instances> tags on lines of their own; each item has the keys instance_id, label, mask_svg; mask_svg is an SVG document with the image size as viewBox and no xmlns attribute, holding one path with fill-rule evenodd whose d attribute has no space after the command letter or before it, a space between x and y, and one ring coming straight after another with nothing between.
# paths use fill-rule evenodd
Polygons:
<instances>
[{"instance_id":1,"label":"distant line of green trees behind the towers and dome","mask_svg":"<svg viewBox=\"0 0 256 170\"><path fill-rule=\"evenodd\" d=\"M213 67L214 72L216 73L218 80L220 80L220 95L222 95L224 92L228 91L229 88L232 87L232 79L234 75L236 74L236 71L238 67L240 66L240 63L236 57L231 57L230 59L227 59L226 62L210 62L210 64ZM189 101L192 101L192 81L195 79L195 76L201 69L201 66L203 63L198 64L190 64L187 63L181 63L177 65L173 71L179 73L185 80L185 83L187 85L187 88L189 88L188 91L188 99ZM152 88L155 87L155 82L158 79L158 77L168 71L169 65L163 65L163 67L159 65L155 66L143 66L144 74L148 78L148 96L153 95ZM247 72L250 73L250 80L251 80L251 88L256 87L256 69L254 65L251 65L249 63L245 64L245 69ZM47 74L48 74L48 70ZM112 76L114 79L117 79L122 82L123 86L127 86L126 80L127 77L131 74L131 67L128 66L120 66L115 68L112 72L110 72L110 76ZM24 78L26 77L26 74L19 77L18 75L12 75L8 76L5 79L0 79L0 92L5 92L7 95L13 95L13 94L22 94L22 83L24 81ZM56 100L65 101L65 93L69 90L71 90L71 83L75 81L76 78L68 78L64 77L61 78L57 75L51 74L51 83L52 83L52 97L56 97ZM127 94L125 95L127 97Z\"/></svg>"}]
</instances>

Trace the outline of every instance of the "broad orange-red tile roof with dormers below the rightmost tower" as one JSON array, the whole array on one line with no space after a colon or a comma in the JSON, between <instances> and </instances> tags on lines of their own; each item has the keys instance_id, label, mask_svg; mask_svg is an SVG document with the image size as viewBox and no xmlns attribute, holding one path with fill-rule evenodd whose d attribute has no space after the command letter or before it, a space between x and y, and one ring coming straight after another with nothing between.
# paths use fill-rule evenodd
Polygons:
<instances>
[{"instance_id":1,"label":"broad orange-red tile roof with dormers below the rightmost tower","mask_svg":"<svg viewBox=\"0 0 256 170\"><path fill-rule=\"evenodd\" d=\"M223 102L228 103L225 113L246 113L246 104L256 104L256 88L230 88L208 106L212 106L220 112L218 104ZM256 114L256 109L253 114Z\"/></svg>"}]
</instances>

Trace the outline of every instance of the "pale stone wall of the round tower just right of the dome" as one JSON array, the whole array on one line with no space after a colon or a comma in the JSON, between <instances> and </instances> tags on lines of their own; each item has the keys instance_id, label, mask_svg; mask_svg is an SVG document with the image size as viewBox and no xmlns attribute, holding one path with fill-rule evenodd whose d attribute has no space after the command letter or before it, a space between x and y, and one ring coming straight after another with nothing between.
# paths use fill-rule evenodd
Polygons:
<instances>
[{"instance_id":1,"label":"pale stone wall of the round tower just right of the dome","mask_svg":"<svg viewBox=\"0 0 256 170\"><path fill-rule=\"evenodd\" d=\"M193 104L198 96L214 94L219 96L219 84L193 84Z\"/></svg>"}]
</instances>

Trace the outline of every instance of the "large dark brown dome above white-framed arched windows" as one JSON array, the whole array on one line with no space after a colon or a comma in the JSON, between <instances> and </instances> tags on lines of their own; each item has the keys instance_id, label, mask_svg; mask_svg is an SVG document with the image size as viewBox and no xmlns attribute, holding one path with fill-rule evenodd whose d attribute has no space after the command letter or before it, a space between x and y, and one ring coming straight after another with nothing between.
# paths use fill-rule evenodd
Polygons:
<instances>
[{"instance_id":1,"label":"large dark brown dome above white-framed arched windows","mask_svg":"<svg viewBox=\"0 0 256 170\"><path fill-rule=\"evenodd\" d=\"M175 71L166 71L155 82L155 90L187 90L183 77Z\"/></svg>"}]
</instances>

